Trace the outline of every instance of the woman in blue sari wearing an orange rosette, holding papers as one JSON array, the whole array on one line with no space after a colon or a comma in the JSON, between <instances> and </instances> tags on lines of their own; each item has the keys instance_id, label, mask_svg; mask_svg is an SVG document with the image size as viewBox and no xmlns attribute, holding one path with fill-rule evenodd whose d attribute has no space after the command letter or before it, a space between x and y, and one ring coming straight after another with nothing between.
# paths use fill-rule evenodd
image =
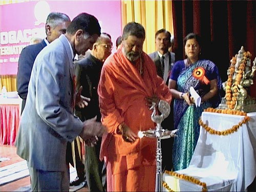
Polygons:
<instances>
[{"instance_id":1,"label":"woman in blue sari wearing an orange rosette, holding papers","mask_svg":"<svg viewBox=\"0 0 256 192\"><path fill-rule=\"evenodd\" d=\"M189 165L199 137L199 118L204 109L215 108L221 99L221 79L217 66L210 60L199 59L200 37L189 33L184 38L184 45L187 58L175 63L168 84L175 98L174 127L179 130L173 145L174 170ZM190 87L201 96L201 105L198 107L190 96Z\"/></svg>"}]
</instances>

